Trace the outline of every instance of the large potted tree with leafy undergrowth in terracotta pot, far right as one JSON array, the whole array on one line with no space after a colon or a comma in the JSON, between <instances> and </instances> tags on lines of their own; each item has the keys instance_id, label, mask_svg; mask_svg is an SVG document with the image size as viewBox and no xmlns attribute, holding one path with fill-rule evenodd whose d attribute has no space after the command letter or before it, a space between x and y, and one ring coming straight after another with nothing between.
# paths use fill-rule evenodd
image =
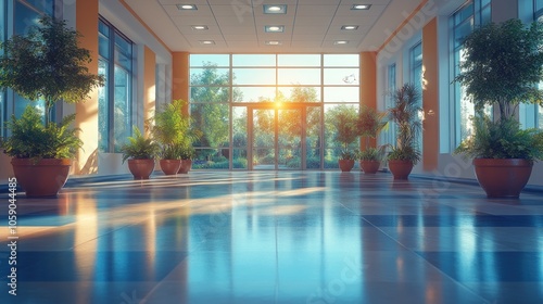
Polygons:
<instances>
[{"instance_id":1,"label":"large potted tree with leafy undergrowth in terracotta pot, far right","mask_svg":"<svg viewBox=\"0 0 543 304\"><path fill-rule=\"evenodd\" d=\"M465 86L478 115L473 135L455 152L473 157L477 180L489 198L518 198L533 162L543 157L541 131L522 130L516 117L519 103L542 104L542 45L541 23L515 18L482 26L464 40L455 81ZM482 113L485 106L497 107L493 119Z\"/></svg>"}]
</instances>

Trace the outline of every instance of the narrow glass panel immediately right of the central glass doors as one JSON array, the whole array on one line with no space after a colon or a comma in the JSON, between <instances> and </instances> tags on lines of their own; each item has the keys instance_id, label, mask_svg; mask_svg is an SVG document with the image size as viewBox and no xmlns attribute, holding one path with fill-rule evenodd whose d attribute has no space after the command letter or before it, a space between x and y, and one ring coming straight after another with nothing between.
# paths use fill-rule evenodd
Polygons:
<instances>
[{"instance_id":1,"label":"narrow glass panel immediately right of the central glass doors","mask_svg":"<svg viewBox=\"0 0 543 304\"><path fill-rule=\"evenodd\" d=\"M306 113L306 129L305 129L305 167L307 169L320 168L320 150L323 149L323 138L320 137L321 109L317 106L308 106Z\"/></svg>"}]
</instances>

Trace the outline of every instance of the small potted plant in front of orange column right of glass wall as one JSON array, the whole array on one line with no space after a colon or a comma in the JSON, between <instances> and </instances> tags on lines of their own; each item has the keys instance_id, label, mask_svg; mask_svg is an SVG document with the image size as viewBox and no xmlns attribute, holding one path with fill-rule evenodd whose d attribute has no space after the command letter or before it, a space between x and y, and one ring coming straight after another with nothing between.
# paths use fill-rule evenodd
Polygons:
<instances>
[{"instance_id":1,"label":"small potted plant in front of orange column right of glass wall","mask_svg":"<svg viewBox=\"0 0 543 304\"><path fill-rule=\"evenodd\" d=\"M366 174L376 174L384 157L387 145L369 147L369 139L377 138L379 132L388 125L386 122L388 113L378 112L372 107L363 106L358 117L358 129L365 138L364 150L358 153L361 168Z\"/></svg>"}]
</instances>

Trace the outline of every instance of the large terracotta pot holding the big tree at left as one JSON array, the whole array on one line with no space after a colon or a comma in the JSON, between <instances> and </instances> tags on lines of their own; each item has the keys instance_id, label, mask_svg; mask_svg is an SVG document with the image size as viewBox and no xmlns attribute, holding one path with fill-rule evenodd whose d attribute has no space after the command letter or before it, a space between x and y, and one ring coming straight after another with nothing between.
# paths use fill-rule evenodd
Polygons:
<instances>
[{"instance_id":1,"label":"large terracotta pot holding the big tree at left","mask_svg":"<svg viewBox=\"0 0 543 304\"><path fill-rule=\"evenodd\" d=\"M26 197L45 198L55 197L66 183L72 160L42 159L35 164L30 159L12 159L11 165Z\"/></svg>"}]
</instances>

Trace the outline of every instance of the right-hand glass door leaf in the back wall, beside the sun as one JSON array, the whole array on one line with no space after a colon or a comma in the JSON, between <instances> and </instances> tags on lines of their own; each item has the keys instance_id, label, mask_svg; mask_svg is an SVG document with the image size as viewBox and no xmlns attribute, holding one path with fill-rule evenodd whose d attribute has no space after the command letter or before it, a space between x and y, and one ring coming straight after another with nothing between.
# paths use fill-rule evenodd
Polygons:
<instances>
[{"instance_id":1,"label":"right-hand glass door leaf in the back wall, beside the sun","mask_svg":"<svg viewBox=\"0 0 543 304\"><path fill-rule=\"evenodd\" d=\"M302 168L302 111L278 111L278 168Z\"/></svg>"}]
</instances>

